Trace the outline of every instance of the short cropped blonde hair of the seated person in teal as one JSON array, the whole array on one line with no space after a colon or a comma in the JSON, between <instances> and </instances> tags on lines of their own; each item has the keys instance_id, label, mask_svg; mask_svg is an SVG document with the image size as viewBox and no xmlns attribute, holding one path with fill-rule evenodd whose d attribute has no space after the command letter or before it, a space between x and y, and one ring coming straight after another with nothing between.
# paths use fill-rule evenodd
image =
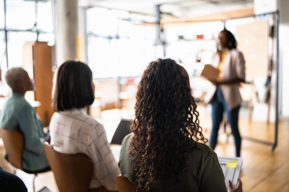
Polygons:
<instances>
[{"instance_id":1,"label":"short cropped blonde hair of the seated person in teal","mask_svg":"<svg viewBox=\"0 0 289 192\"><path fill-rule=\"evenodd\" d=\"M24 74L26 70L24 70L22 67L13 67L11 69L8 69L5 74L5 81L9 87L11 87L12 90L14 90L16 81L24 80ZM26 72L27 73L27 72Z\"/></svg>"}]
</instances>

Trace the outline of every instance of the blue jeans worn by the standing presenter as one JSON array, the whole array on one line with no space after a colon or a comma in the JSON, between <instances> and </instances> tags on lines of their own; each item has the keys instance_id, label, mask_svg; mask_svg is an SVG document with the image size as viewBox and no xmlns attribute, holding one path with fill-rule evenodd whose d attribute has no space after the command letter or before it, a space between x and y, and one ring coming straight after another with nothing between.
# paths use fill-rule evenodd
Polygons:
<instances>
[{"instance_id":1,"label":"blue jeans worn by the standing presenter","mask_svg":"<svg viewBox=\"0 0 289 192\"><path fill-rule=\"evenodd\" d=\"M212 132L210 137L210 147L214 150L217 143L218 131L220 128L220 123L223 120L223 113L224 110L227 113L228 123L231 126L232 134L235 139L235 147L236 147L236 156L240 157L240 149L241 149L241 137L238 128L238 116L239 116L239 109L235 107L232 110L228 109L228 105L223 97L222 90L218 87L216 89L216 93L213 97L212 102Z\"/></svg>"}]
</instances>

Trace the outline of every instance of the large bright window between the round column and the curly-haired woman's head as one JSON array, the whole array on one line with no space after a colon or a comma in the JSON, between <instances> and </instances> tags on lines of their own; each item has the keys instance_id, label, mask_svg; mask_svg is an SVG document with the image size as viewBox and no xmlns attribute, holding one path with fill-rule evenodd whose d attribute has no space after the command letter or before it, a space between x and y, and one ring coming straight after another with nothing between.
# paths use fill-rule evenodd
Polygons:
<instances>
[{"instance_id":1,"label":"large bright window between the round column and the curly-haired woman's head","mask_svg":"<svg viewBox=\"0 0 289 192\"><path fill-rule=\"evenodd\" d=\"M95 78L140 76L150 61L163 57L155 45L156 27L145 26L142 18L100 7L86 15L88 64Z\"/></svg>"}]
</instances>

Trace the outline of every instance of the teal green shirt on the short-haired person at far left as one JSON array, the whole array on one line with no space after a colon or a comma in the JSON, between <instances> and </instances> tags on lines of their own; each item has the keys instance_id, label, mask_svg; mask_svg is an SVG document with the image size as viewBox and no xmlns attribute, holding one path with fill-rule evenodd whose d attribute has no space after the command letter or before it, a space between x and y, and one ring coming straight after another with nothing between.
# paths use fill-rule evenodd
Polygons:
<instances>
[{"instance_id":1,"label":"teal green shirt on the short-haired person at far left","mask_svg":"<svg viewBox=\"0 0 289 192\"><path fill-rule=\"evenodd\" d=\"M5 102L0 112L0 127L17 129L22 133L24 170L37 171L49 167L43 148L45 134L42 122L23 95L13 92L11 98Z\"/></svg>"}]
</instances>

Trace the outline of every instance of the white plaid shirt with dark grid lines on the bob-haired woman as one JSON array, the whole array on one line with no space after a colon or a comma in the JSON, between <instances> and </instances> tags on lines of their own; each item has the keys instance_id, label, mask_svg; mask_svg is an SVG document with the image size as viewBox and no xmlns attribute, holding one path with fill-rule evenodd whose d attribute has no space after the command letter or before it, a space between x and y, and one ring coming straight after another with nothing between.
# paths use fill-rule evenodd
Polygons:
<instances>
[{"instance_id":1,"label":"white plaid shirt with dark grid lines on the bob-haired woman","mask_svg":"<svg viewBox=\"0 0 289 192\"><path fill-rule=\"evenodd\" d=\"M104 186L117 190L116 177L120 169L107 142L103 125L82 109L55 112L49 125L51 142L58 152L83 153L94 163L90 187Z\"/></svg>"}]
</instances>

